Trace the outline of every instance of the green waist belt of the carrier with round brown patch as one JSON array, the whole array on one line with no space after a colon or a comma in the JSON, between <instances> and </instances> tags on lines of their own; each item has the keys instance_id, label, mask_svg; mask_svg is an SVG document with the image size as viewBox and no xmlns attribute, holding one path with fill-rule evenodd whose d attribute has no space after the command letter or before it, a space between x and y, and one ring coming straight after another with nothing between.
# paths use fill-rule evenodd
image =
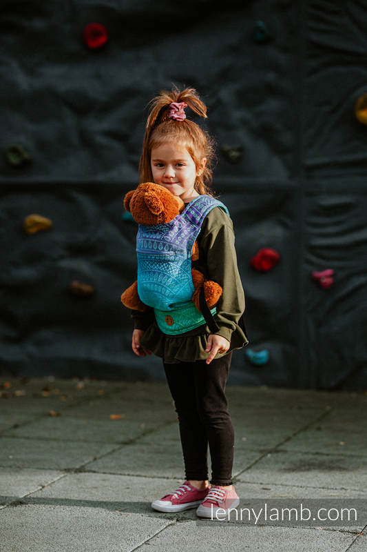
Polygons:
<instances>
[{"instance_id":1,"label":"green waist belt of the carrier with round brown patch","mask_svg":"<svg viewBox=\"0 0 367 552\"><path fill-rule=\"evenodd\" d=\"M216 307L211 309L211 314L216 314ZM182 303L171 311L160 311L154 309L154 315L160 331L167 335L178 335L179 333L189 332L194 328L206 324L205 317L199 313L192 301Z\"/></svg>"}]
</instances>

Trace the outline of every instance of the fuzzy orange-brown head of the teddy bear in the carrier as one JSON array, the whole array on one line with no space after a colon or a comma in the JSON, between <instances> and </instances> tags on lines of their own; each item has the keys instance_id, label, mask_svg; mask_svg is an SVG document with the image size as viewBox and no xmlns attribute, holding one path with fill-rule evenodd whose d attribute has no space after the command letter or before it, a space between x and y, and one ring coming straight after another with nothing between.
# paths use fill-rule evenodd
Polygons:
<instances>
[{"instance_id":1,"label":"fuzzy orange-brown head of the teddy bear in the carrier","mask_svg":"<svg viewBox=\"0 0 367 552\"><path fill-rule=\"evenodd\" d=\"M182 199L159 184L146 182L125 195L124 207L138 224L155 226L173 220L185 208Z\"/></svg>"}]
</instances>

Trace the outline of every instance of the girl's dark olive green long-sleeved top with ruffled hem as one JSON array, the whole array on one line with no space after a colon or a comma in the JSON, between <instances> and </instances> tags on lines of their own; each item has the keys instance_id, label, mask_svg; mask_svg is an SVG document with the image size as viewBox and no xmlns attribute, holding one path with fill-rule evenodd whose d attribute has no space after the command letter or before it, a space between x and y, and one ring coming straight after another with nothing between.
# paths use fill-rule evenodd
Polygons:
<instances>
[{"instance_id":1,"label":"girl's dark olive green long-sleeved top with ruffled hem","mask_svg":"<svg viewBox=\"0 0 367 552\"><path fill-rule=\"evenodd\" d=\"M229 351L242 348L249 343L239 325L245 308L244 291L237 267L233 224L220 207L214 207L205 217L197 242L199 259L193 262L193 268L200 270L207 279L218 282L223 289L214 315L219 326L216 333L229 340ZM140 344L158 357L162 357L165 362L207 359L209 353L205 353L205 347L210 331L206 324L180 335L167 335L158 328L153 308L148 307L144 313L131 313L134 328L145 330ZM217 354L215 358L227 353Z\"/></svg>"}]
</instances>

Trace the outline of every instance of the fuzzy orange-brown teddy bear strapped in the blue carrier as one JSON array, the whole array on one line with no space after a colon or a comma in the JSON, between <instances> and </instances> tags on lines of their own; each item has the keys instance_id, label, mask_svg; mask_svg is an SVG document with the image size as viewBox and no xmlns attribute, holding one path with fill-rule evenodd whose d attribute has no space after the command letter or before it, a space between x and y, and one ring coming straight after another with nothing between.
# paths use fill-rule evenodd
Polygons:
<instances>
[{"instance_id":1,"label":"fuzzy orange-brown teddy bear strapped in the blue carrier","mask_svg":"<svg viewBox=\"0 0 367 552\"><path fill-rule=\"evenodd\" d=\"M169 190L166 190L159 184L147 182L139 184L136 190L127 192L124 199L124 207L132 213L134 220L138 224L147 224L156 226L157 224L167 223L173 220L185 208L185 204L180 197L177 197ZM193 244L191 260L196 261L199 258L199 248L195 241ZM191 270L193 286L195 292L192 300L198 311L200 310L199 296L202 286L204 286L204 295L207 301L207 306L213 308L222 295L222 288L216 282L206 280L204 275L199 270L193 268ZM134 311L145 311L147 306L140 301L138 296L137 280L129 286L121 295L121 302L127 308L132 308Z\"/></svg>"}]
</instances>

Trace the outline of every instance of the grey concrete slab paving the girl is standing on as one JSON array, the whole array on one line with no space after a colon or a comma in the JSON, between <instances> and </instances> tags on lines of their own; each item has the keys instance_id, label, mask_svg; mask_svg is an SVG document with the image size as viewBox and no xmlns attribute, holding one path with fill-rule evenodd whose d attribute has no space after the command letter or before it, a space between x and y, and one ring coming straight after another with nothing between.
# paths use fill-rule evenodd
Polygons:
<instances>
[{"instance_id":1,"label":"grey concrete slab paving the girl is standing on","mask_svg":"<svg viewBox=\"0 0 367 552\"><path fill-rule=\"evenodd\" d=\"M1 552L367 551L364 391L228 385L240 505L226 520L151 509L185 479L167 384L14 378L0 395ZM265 504L334 521L255 522Z\"/></svg>"}]
</instances>

